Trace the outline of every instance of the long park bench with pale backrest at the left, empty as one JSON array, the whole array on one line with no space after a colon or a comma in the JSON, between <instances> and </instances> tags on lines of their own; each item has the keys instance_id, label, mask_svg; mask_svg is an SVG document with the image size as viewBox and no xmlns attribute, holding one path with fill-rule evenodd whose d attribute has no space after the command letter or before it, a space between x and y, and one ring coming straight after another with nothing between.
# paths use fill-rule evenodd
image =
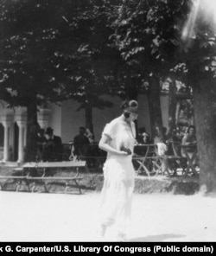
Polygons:
<instances>
[{"instance_id":1,"label":"long park bench with pale backrest at the left, empty","mask_svg":"<svg viewBox=\"0 0 216 256\"><path fill-rule=\"evenodd\" d=\"M54 176L58 169L75 169L75 176ZM81 188L79 181L82 179L79 176L79 168L86 168L86 161L64 161L64 162L30 162L24 163L21 167L17 167L13 170L15 174L19 175L12 176L0 176L0 180L7 182L9 180L16 180L16 191L19 190L22 182L25 182L29 191L35 192L35 182L42 182L45 191L48 192L48 181L64 181L65 182L65 193L67 189L72 185L70 182L74 182L74 186L79 189L81 194ZM41 173L42 172L42 173ZM41 175L40 175L41 173ZM30 189L30 184L32 184ZM0 182L1 189L4 189L4 185Z\"/></svg>"}]
</instances>

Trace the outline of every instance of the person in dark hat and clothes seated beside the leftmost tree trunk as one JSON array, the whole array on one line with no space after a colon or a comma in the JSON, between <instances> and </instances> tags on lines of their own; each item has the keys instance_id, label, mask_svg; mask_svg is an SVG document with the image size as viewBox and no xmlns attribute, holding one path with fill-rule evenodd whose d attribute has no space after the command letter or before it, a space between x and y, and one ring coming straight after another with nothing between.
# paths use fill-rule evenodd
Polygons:
<instances>
[{"instance_id":1,"label":"person in dark hat and clothes seated beside the leftmost tree trunk","mask_svg":"<svg viewBox=\"0 0 216 256\"><path fill-rule=\"evenodd\" d=\"M47 144L44 146L43 161L62 161L63 146L61 138L54 135L54 130L48 127L46 131Z\"/></svg>"}]
</instances>

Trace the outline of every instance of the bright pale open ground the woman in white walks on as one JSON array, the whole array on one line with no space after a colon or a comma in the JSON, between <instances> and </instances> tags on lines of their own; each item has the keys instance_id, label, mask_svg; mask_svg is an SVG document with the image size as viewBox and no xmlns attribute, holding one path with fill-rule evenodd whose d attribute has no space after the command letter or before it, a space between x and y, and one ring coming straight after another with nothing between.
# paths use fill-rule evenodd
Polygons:
<instances>
[{"instance_id":1,"label":"bright pale open ground the woman in white walks on","mask_svg":"<svg viewBox=\"0 0 216 256\"><path fill-rule=\"evenodd\" d=\"M0 241L97 241L98 204L97 193L0 191ZM213 196L135 194L129 239L216 241L215 210Z\"/></svg>"}]
</instances>

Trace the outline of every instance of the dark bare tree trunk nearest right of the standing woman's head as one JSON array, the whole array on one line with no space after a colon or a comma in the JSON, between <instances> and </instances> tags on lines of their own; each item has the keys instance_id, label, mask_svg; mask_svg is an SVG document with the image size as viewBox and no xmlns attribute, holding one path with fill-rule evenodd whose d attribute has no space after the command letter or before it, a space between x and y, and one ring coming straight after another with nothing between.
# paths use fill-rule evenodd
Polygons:
<instances>
[{"instance_id":1,"label":"dark bare tree trunk nearest right of the standing woman's head","mask_svg":"<svg viewBox=\"0 0 216 256\"><path fill-rule=\"evenodd\" d=\"M150 114L150 127L151 138L160 137L162 135L162 109L161 109L161 88L160 80L156 76L152 76L149 81L149 114Z\"/></svg>"}]
</instances>

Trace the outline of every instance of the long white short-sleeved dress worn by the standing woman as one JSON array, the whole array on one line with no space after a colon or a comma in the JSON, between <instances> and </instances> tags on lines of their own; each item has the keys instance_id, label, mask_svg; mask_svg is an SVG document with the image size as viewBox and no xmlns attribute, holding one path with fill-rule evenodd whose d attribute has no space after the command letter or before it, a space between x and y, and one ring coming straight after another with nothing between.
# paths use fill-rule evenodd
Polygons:
<instances>
[{"instance_id":1,"label":"long white short-sleeved dress worn by the standing woman","mask_svg":"<svg viewBox=\"0 0 216 256\"><path fill-rule=\"evenodd\" d=\"M111 147L120 150L124 146L133 153L136 138L133 122L126 123L123 116L115 118L105 125L103 134L111 138ZM103 170L105 181L101 192L101 224L106 227L115 224L118 234L126 234L134 190L132 155L118 156L108 152Z\"/></svg>"}]
</instances>

